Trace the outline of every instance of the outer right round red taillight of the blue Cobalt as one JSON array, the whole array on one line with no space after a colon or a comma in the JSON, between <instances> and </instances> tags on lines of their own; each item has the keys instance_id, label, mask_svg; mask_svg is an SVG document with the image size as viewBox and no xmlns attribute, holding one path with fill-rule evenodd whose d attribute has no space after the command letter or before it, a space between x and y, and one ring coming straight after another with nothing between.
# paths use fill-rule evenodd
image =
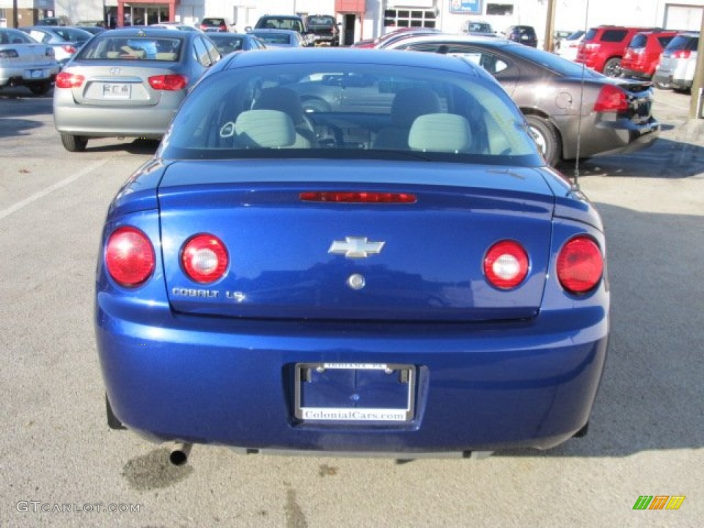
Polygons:
<instances>
[{"instance_id":1,"label":"outer right round red taillight of the blue Cobalt","mask_svg":"<svg viewBox=\"0 0 704 528\"><path fill-rule=\"evenodd\" d=\"M558 255L558 280L572 294L586 294L601 280L604 259L590 237L580 235L567 241Z\"/></svg>"}]
</instances>

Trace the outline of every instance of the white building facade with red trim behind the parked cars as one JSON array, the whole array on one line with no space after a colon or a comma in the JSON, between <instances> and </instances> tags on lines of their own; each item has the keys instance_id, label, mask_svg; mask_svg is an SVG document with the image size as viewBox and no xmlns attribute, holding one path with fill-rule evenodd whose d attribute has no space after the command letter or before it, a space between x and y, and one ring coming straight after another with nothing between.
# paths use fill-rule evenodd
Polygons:
<instances>
[{"instance_id":1,"label":"white building facade with red trim behind the parked cars","mask_svg":"<svg viewBox=\"0 0 704 528\"><path fill-rule=\"evenodd\" d=\"M398 27L436 27L458 32L466 20L489 22L501 32L515 24L532 25L545 34L549 0L17 0L19 25L44 16L104 20L120 26L177 21L199 23L225 17L243 31L263 14L335 15L343 44L378 37ZM702 0L554 0L554 29L584 30L594 25L634 25L699 30ZM8 6L9 4L9 6ZM0 0L0 18L12 20L13 0ZM588 7L587 7L588 5ZM26 13L26 14L25 14ZM9 16L8 16L9 15ZM7 25L10 25L9 23Z\"/></svg>"}]
</instances>

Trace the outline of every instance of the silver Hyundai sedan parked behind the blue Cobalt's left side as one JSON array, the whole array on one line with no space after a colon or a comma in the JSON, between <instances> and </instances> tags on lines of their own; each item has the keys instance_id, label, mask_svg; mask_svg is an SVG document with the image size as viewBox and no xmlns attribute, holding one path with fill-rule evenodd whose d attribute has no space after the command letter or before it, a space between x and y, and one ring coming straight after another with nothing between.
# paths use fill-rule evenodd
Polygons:
<instances>
[{"instance_id":1,"label":"silver Hyundai sedan parked behind the blue Cobalt's left side","mask_svg":"<svg viewBox=\"0 0 704 528\"><path fill-rule=\"evenodd\" d=\"M159 139L191 87L220 60L201 32L148 27L96 35L56 76L54 125L71 152L96 137Z\"/></svg>"}]
</instances>

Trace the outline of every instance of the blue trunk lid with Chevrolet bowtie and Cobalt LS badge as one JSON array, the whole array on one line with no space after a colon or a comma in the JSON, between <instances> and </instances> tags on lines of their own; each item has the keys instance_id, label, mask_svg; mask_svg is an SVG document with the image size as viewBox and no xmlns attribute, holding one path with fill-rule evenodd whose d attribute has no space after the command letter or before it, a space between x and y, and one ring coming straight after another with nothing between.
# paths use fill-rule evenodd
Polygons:
<instances>
[{"instance_id":1,"label":"blue trunk lid with Chevrolet bowtie and Cobalt LS badge","mask_svg":"<svg viewBox=\"0 0 704 528\"><path fill-rule=\"evenodd\" d=\"M319 170L303 161L171 165L159 203L172 308L231 317L427 321L515 320L538 312L553 195L534 170L427 163ZM415 202L301 199L315 191L406 193ZM184 243L200 233L227 247L229 268L214 284L189 279L180 263ZM528 277L510 291L488 284L482 265L489 247L504 239L519 241L530 260Z\"/></svg>"}]
</instances>

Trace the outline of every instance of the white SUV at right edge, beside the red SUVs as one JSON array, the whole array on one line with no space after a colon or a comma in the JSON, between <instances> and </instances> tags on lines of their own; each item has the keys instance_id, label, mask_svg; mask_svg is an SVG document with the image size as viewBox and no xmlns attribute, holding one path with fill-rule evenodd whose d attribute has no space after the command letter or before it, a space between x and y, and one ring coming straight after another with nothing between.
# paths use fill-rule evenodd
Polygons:
<instances>
[{"instance_id":1,"label":"white SUV at right edge, beside the red SUVs","mask_svg":"<svg viewBox=\"0 0 704 528\"><path fill-rule=\"evenodd\" d=\"M653 76L655 86L660 89L689 90L697 65L698 45L698 32L684 32L674 37L660 54L660 64Z\"/></svg>"}]
</instances>

